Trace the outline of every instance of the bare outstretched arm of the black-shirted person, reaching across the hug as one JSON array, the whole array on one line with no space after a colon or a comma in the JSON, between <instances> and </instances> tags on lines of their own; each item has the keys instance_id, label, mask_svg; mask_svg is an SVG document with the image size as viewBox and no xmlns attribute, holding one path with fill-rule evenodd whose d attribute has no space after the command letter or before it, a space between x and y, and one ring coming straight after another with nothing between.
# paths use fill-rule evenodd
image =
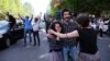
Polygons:
<instances>
[{"instance_id":1,"label":"bare outstretched arm of the black-shirted person, reaching across the hug","mask_svg":"<svg viewBox=\"0 0 110 61\"><path fill-rule=\"evenodd\" d=\"M79 37L79 34L77 30L74 30L74 32L67 33L67 34L61 34L61 33L54 32L53 29L50 29L48 33L54 34L54 35L58 36L59 38Z\"/></svg>"}]
</instances>

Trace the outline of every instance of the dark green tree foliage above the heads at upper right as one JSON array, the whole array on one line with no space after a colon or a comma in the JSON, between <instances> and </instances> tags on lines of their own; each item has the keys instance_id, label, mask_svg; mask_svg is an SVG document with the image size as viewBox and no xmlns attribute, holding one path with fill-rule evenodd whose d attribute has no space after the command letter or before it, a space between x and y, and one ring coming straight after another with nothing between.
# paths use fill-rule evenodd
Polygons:
<instances>
[{"instance_id":1,"label":"dark green tree foliage above the heads at upper right","mask_svg":"<svg viewBox=\"0 0 110 61\"><path fill-rule=\"evenodd\" d=\"M52 8L55 10L69 9L73 12L89 12L100 14L102 11L110 10L109 0L63 0L61 5L57 8Z\"/></svg>"}]
</instances>

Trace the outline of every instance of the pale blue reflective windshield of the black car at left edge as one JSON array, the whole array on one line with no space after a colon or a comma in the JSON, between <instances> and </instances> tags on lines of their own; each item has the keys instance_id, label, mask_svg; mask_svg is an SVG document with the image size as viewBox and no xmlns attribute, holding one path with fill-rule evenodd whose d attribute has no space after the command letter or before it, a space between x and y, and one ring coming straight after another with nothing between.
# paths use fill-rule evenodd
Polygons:
<instances>
[{"instance_id":1,"label":"pale blue reflective windshield of the black car at left edge","mask_svg":"<svg viewBox=\"0 0 110 61\"><path fill-rule=\"evenodd\" d=\"M7 33L8 29L9 29L9 22L0 21L0 35Z\"/></svg>"}]
</instances>

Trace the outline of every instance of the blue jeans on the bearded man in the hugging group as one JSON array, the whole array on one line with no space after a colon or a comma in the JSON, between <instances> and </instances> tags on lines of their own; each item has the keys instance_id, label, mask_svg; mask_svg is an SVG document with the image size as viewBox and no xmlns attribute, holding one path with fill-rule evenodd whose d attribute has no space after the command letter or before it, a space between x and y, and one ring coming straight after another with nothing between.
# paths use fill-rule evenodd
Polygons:
<instances>
[{"instance_id":1,"label":"blue jeans on the bearded man in the hugging group","mask_svg":"<svg viewBox=\"0 0 110 61\"><path fill-rule=\"evenodd\" d=\"M63 48L64 61L68 61L68 56L73 61L77 61L78 59L78 50L76 47L64 47Z\"/></svg>"}]
</instances>

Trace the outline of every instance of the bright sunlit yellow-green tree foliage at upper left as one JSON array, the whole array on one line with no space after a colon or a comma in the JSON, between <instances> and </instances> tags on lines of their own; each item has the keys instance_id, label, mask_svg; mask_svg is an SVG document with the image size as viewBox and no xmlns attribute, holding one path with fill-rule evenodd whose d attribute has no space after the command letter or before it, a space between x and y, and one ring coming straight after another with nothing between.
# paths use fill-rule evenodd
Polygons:
<instances>
[{"instance_id":1,"label":"bright sunlit yellow-green tree foliage at upper left","mask_svg":"<svg viewBox=\"0 0 110 61\"><path fill-rule=\"evenodd\" d=\"M22 15L32 13L32 7L29 3L23 5L21 0L0 0L0 19L4 19L7 12L18 17L18 13Z\"/></svg>"}]
</instances>

